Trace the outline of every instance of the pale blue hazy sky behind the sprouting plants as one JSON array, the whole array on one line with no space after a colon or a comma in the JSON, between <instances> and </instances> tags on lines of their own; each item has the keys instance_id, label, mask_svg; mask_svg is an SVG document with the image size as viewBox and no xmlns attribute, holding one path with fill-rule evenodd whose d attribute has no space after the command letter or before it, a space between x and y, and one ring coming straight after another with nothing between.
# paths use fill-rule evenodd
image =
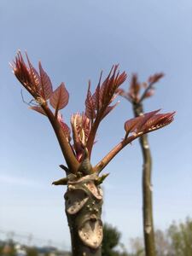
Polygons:
<instances>
[{"instance_id":1,"label":"pale blue hazy sky behind the sprouting plants","mask_svg":"<svg viewBox=\"0 0 192 256\"><path fill-rule=\"evenodd\" d=\"M17 49L41 60L54 86L67 85L70 102L62 113L84 110L88 79L92 88L100 71L114 63L138 73L141 81L156 72L166 77L146 112L177 111L175 121L149 135L153 150L154 225L192 216L192 3L183 1L10 1L0 3L0 229L32 233L69 246L59 145L49 122L21 100L19 82L9 68ZM125 82L125 89L128 82ZM23 91L27 100L30 96ZM98 132L92 164L124 137L132 117L124 99ZM142 155L138 143L125 148L106 168L103 220L118 227L122 241L142 236Z\"/></svg>"}]
</instances>

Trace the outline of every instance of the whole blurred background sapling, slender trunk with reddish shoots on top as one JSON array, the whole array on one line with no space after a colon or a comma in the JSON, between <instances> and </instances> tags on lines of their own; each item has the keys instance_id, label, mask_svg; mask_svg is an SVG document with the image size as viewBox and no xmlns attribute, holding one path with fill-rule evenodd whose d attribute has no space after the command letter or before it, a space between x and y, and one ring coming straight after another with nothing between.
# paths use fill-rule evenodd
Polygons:
<instances>
[{"instance_id":1,"label":"whole blurred background sapling, slender trunk with reddish shoots on top","mask_svg":"<svg viewBox=\"0 0 192 256\"><path fill-rule=\"evenodd\" d=\"M134 117L143 116L143 100L154 94L154 84L163 77L163 73L156 73L149 77L147 83L139 83L137 75L133 74L128 92L119 89L119 94L131 102ZM141 90L144 88L143 94ZM154 219L153 219L153 192L152 192L152 157L148 144L148 135L139 137L143 154L143 236L146 256L155 256Z\"/></svg>"}]
</instances>

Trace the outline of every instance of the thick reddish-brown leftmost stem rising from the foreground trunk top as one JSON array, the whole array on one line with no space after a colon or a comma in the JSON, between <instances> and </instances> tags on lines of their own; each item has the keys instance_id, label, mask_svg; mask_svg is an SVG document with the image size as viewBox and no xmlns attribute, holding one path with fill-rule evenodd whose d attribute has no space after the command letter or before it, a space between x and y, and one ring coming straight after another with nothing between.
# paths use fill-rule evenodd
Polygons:
<instances>
[{"instance_id":1,"label":"thick reddish-brown leftmost stem rising from the foreground trunk top","mask_svg":"<svg viewBox=\"0 0 192 256\"><path fill-rule=\"evenodd\" d=\"M52 125L57 140L60 144L62 154L67 162L67 166L70 172L76 173L79 168L79 162L76 160L72 148L70 147L69 143L67 142L66 137L63 134L61 129L61 125L55 119L54 114L50 111L49 107L46 105L41 106L44 109L44 112L47 114L50 124Z\"/></svg>"}]
</instances>

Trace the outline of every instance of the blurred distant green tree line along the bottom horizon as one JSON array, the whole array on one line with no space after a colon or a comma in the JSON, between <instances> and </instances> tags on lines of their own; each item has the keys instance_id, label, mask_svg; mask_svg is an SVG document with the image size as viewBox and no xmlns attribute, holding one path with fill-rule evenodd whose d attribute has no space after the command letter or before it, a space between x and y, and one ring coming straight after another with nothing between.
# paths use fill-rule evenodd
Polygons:
<instances>
[{"instance_id":1,"label":"blurred distant green tree line along the bottom horizon","mask_svg":"<svg viewBox=\"0 0 192 256\"><path fill-rule=\"evenodd\" d=\"M102 256L145 256L143 238L137 237L130 241L130 252L120 242L120 232L110 224L104 224ZM173 222L166 231L155 231L157 256L192 256L192 218L184 222ZM15 242L0 243L1 256L17 256ZM55 255L61 255L56 254ZM36 247L26 247L26 256L38 256ZM44 256L49 256L49 252Z\"/></svg>"}]
</instances>

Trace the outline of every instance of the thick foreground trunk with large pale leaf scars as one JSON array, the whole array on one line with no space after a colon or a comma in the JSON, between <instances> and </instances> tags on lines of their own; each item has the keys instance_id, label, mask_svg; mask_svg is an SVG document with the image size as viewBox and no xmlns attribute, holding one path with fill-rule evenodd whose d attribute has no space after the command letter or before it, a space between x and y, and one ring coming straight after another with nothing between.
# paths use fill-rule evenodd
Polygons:
<instances>
[{"instance_id":1,"label":"thick foreground trunk with large pale leaf scars","mask_svg":"<svg viewBox=\"0 0 192 256\"><path fill-rule=\"evenodd\" d=\"M69 182L64 195L73 256L102 255L102 189L94 181Z\"/></svg>"}]
</instances>

